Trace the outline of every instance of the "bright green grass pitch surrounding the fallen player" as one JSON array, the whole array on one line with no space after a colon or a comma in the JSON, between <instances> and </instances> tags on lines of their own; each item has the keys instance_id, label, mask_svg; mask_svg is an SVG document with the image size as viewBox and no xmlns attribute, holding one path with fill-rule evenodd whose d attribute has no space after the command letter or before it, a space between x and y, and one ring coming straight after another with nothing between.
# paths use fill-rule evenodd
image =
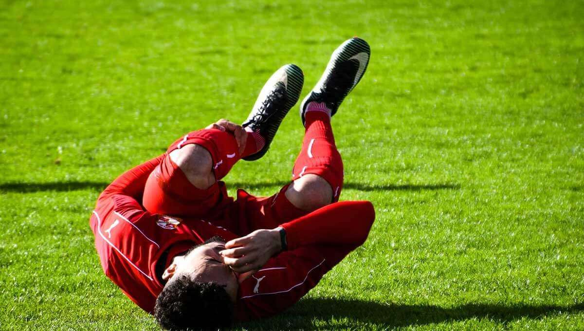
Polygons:
<instances>
[{"instance_id":1,"label":"bright green grass pitch surrounding the fallen player","mask_svg":"<svg viewBox=\"0 0 584 331\"><path fill-rule=\"evenodd\" d=\"M239 329L584 329L584 2L0 0L0 329L158 329L88 226L124 170L245 119L293 62L311 89L358 35L333 119L369 239L286 313ZM225 178L273 194L303 127ZM261 174L261 176L258 176Z\"/></svg>"}]
</instances>

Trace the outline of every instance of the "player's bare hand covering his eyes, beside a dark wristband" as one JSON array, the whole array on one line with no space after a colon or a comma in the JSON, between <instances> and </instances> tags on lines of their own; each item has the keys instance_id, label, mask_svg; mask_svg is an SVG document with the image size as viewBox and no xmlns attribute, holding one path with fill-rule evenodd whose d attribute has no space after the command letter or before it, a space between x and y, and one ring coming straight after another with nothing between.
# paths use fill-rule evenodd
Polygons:
<instances>
[{"instance_id":1,"label":"player's bare hand covering his eyes, beside a dark wristband","mask_svg":"<svg viewBox=\"0 0 584 331\"><path fill-rule=\"evenodd\" d=\"M282 250L279 229L260 229L225 243L220 253L223 263L237 273L258 270Z\"/></svg>"}]
</instances>

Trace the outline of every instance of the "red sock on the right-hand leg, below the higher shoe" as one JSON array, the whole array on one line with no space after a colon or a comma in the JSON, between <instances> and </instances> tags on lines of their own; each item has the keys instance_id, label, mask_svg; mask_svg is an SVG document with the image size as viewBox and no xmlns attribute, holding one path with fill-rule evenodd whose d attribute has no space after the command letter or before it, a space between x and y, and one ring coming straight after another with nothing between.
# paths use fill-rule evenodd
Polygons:
<instances>
[{"instance_id":1,"label":"red sock on the right-hand leg, below the higher shoe","mask_svg":"<svg viewBox=\"0 0 584 331\"><path fill-rule=\"evenodd\" d=\"M338 201L343 186L343 161L336 149L329 112L324 104L308 104L304 141L292 178L296 180L308 173L321 176L331 184L333 201Z\"/></svg>"}]
</instances>

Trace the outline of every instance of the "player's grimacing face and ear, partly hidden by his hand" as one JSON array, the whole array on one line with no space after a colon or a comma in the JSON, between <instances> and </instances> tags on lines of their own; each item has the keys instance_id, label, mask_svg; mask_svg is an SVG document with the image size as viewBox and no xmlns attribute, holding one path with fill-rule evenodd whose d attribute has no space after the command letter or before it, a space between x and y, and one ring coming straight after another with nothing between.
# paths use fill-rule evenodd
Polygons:
<instances>
[{"instance_id":1,"label":"player's grimacing face and ear, partly hidden by his hand","mask_svg":"<svg viewBox=\"0 0 584 331\"><path fill-rule=\"evenodd\" d=\"M225 249L224 242L210 242L197 247L176 266L176 274L186 273L194 281L213 282L225 287L233 302L237 299L237 274L223 263L219 254Z\"/></svg>"}]
</instances>

